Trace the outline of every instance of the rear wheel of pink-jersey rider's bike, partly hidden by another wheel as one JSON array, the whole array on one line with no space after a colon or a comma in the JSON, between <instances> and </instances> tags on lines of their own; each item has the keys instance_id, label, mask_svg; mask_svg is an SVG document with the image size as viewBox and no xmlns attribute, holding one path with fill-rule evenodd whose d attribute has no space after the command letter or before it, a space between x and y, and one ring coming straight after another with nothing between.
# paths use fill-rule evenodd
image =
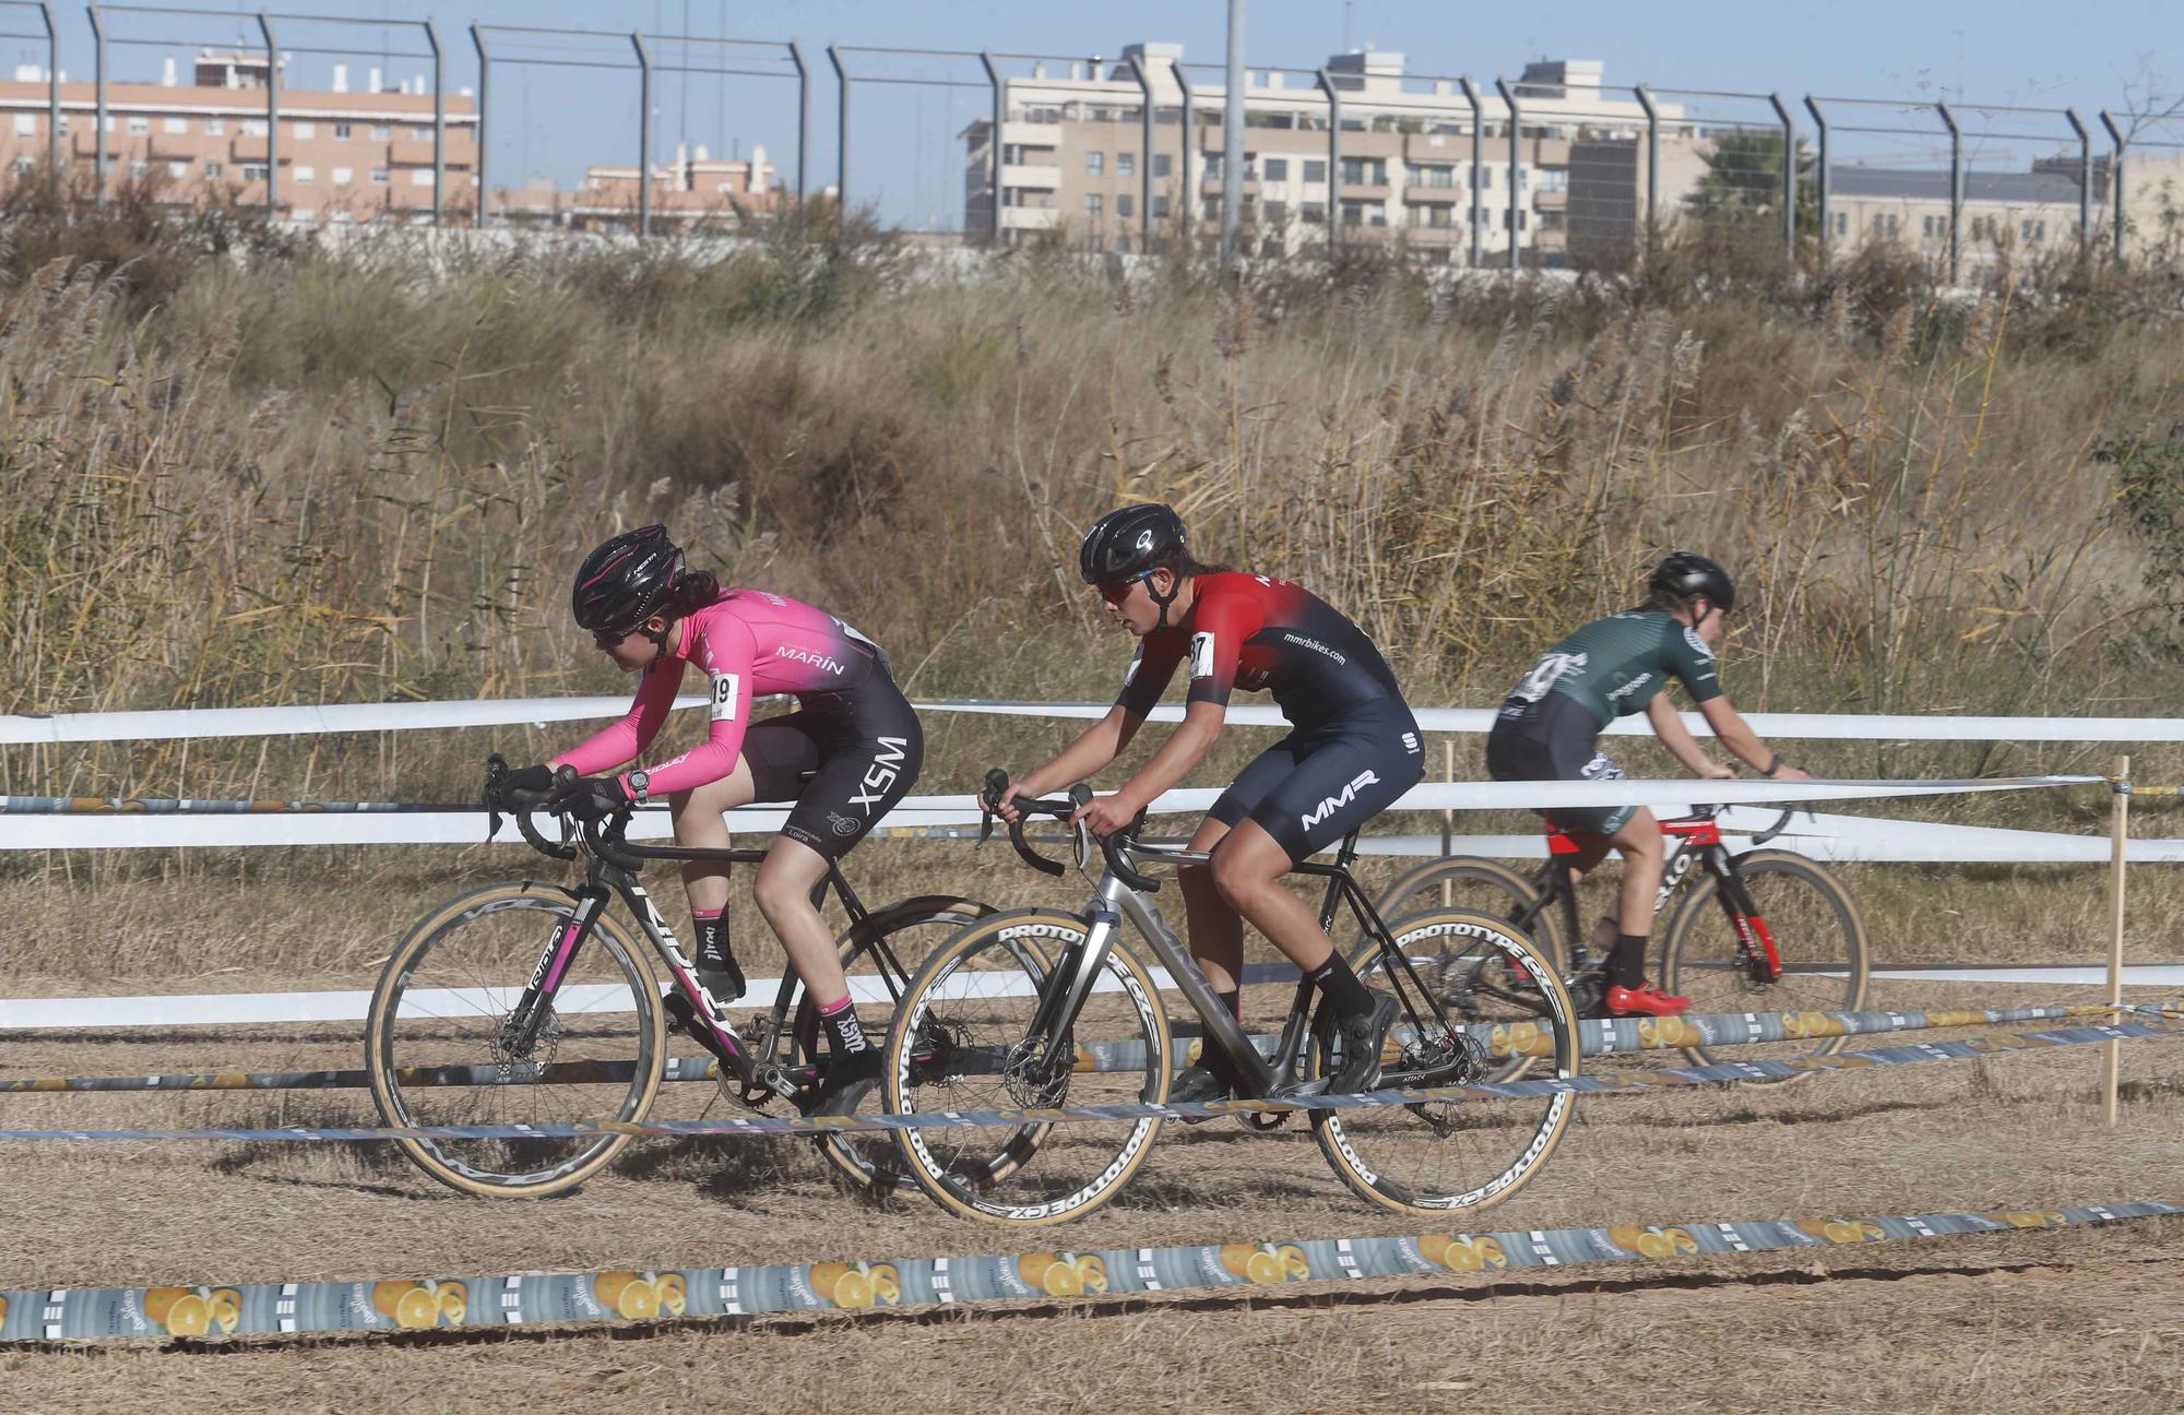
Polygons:
<instances>
[{"instance_id":1,"label":"rear wheel of pink-jersey rider's bike, partly hidden by another wheel","mask_svg":"<svg viewBox=\"0 0 2184 1415\"><path fill-rule=\"evenodd\" d=\"M909 987L911 972L965 924L994 913L992 904L948 895L919 895L889 904L841 935L841 972L850 978L858 1020L874 1037L887 1035L893 1013ZM791 1033L797 1055L819 1061L826 1044L819 1039L819 1011L802 985L795 1000L780 1009L793 1011ZM917 1179L902 1166L902 1151L887 1131L850 1131L821 1135L819 1153L845 1184L867 1192L911 1190Z\"/></svg>"}]
</instances>

